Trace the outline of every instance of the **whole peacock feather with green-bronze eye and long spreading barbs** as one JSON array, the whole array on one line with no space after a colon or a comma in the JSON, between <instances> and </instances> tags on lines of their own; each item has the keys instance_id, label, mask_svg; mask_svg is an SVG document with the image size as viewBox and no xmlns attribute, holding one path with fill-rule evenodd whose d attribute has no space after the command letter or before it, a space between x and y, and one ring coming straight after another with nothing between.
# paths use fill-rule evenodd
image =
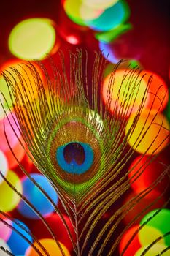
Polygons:
<instances>
[{"instance_id":1,"label":"whole peacock feather with green-bronze eye and long spreading barbs","mask_svg":"<svg viewBox=\"0 0 170 256\"><path fill-rule=\"evenodd\" d=\"M128 170L127 166L129 160L136 154L135 148L142 143L142 139L136 138L134 141L136 147L129 147L128 141L133 136L144 109L152 77L148 79L147 88L134 114L134 121L128 132L125 132L128 118L125 118L124 114L131 114L131 105L136 104L136 98L144 78L144 75L141 77L142 70L139 67L131 69L128 67L120 83L114 111L110 111L114 94L111 85L114 83L117 69L120 68L123 61L120 61L112 69L107 90L107 104L104 105L101 91L104 67L107 61L104 60L101 53L94 54L93 64L91 60L89 61L92 57L82 50L64 55L62 52L58 53L58 64L55 64L51 57L49 58L50 70L42 62L37 63L36 61L42 70L43 78L32 62L20 64L24 75L17 68L11 68L3 73L12 99L12 107L18 120L18 129L23 139L20 140L20 143L23 147L25 147L23 141L26 143L26 154L58 193L62 210L55 206L47 192L36 183L34 178L31 178L20 162L18 164L31 181L39 187L54 206L55 212L61 217L72 241L73 255L116 255L117 245L125 230L128 230L128 227L131 227L150 205L142 209L140 214L136 215L126 227L123 227L121 223L125 214L150 193L163 176L169 172L169 167L165 166L162 175L150 187L147 187L139 195L135 195L127 203L119 203L123 201L123 196L131 187L128 181L128 173L131 170ZM68 56L69 65L64 62ZM121 91L124 80L126 89ZM132 83L134 89L130 90ZM120 96L123 103L118 108ZM156 98L158 98L157 95L155 95ZM151 109L152 107L148 110L148 116ZM158 112L155 112L154 116L157 114ZM151 124L154 123L154 120L155 118L152 118ZM160 129L162 128L163 120L160 125ZM142 127L144 131L142 138L148 128L144 129L145 124ZM15 133L17 136L17 132ZM155 138L157 136L155 135ZM163 140L156 149L168 138L169 131L165 129ZM153 142L154 140L148 145L148 149ZM147 165L150 165L153 159L158 157L158 154L153 151L147 159ZM147 155L147 151L144 155ZM17 156L15 158L17 159ZM134 174L132 177L134 181L143 171L138 170ZM7 181L7 178L4 177L4 179ZM8 184L10 186L9 182ZM61 255L65 255L53 232L53 227L47 224L42 214L26 200L26 197L21 195L17 189L15 192L42 219L43 224L61 249ZM153 201L152 204L155 202ZM168 201L165 206L167 203ZM106 219L104 216L108 211L111 211L112 214ZM74 235L63 218L63 212L69 216L72 222ZM33 245L38 255L49 255L34 234L31 236L43 251L42 254L39 247Z\"/></svg>"}]
</instances>

